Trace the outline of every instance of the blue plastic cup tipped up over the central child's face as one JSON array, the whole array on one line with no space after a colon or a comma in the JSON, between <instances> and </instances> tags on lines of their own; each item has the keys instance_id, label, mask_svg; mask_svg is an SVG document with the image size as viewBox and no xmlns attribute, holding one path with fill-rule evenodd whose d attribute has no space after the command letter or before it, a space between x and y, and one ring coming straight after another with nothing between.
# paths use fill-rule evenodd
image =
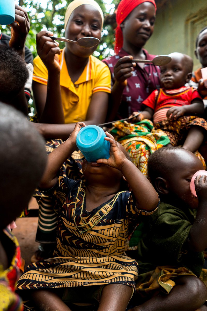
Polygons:
<instances>
[{"instance_id":1,"label":"blue plastic cup tipped up over the central child's face","mask_svg":"<svg viewBox=\"0 0 207 311\"><path fill-rule=\"evenodd\" d=\"M80 129L76 145L88 162L109 158L110 143L104 137L104 130L97 125L88 125Z\"/></svg>"}]
</instances>

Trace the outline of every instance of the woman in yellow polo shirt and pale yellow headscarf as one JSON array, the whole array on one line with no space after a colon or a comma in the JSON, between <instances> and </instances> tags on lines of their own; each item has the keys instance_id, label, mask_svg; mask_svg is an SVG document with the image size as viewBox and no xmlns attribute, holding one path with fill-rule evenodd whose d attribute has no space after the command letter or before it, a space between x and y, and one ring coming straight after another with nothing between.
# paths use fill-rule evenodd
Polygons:
<instances>
[{"instance_id":1,"label":"woman in yellow polo shirt and pale yellow headscarf","mask_svg":"<svg viewBox=\"0 0 207 311\"><path fill-rule=\"evenodd\" d=\"M103 13L94 0L74 0L65 14L65 37L101 39ZM67 43L63 50L50 38L50 31L37 35L33 92L38 126L46 138L68 137L74 124L103 123L111 90L109 68L91 54L97 46L84 49ZM55 123L59 123L55 124ZM65 123L65 124L63 124Z\"/></svg>"}]
</instances>

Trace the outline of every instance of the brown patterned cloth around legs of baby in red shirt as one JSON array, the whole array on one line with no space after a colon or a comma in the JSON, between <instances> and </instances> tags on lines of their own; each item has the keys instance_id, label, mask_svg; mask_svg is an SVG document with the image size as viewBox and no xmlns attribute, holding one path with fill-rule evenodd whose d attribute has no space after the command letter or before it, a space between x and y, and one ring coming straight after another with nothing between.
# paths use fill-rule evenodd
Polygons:
<instances>
[{"instance_id":1,"label":"brown patterned cloth around legs of baby in red shirt","mask_svg":"<svg viewBox=\"0 0 207 311\"><path fill-rule=\"evenodd\" d=\"M173 146L183 145L187 132L192 126L199 126L207 131L205 119L195 116L182 116L177 120L163 120L154 124L155 129L161 129L168 135Z\"/></svg>"}]
</instances>

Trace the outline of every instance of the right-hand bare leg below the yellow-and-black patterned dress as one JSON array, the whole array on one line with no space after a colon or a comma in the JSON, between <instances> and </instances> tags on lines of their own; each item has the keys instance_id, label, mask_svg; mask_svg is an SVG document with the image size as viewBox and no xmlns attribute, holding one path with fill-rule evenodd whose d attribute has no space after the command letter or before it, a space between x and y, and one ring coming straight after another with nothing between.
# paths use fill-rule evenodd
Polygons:
<instances>
[{"instance_id":1,"label":"right-hand bare leg below the yellow-and-black patterned dress","mask_svg":"<svg viewBox=\"0 0 207 311\"><path fill-rule=\"evenodd\" d=\"M106 285L101 293L98 311L125 311L132 293L132 287L127 285Z\"/></svg>"}]
</instances>

